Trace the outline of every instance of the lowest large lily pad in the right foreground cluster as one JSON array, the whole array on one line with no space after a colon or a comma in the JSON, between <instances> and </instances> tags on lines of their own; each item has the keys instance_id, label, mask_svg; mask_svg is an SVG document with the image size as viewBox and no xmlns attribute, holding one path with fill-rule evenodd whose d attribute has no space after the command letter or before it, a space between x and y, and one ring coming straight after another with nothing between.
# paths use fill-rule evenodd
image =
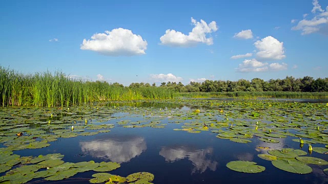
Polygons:
<instances>
[{"instance_id":1,"label":"lowest large lily pad in the right foreground cluster","mask_svg":"<svg viewBox=\"0 0 328 184\"><path fill-rule=\"evenodd\" d=\"M301 164L293 160L279 159L276 161L272 161L271 163L276 168L287 172L292 172L297 174L308 174L312 172L312 168L310 166Z\"/></svg>"}]
</instances>

